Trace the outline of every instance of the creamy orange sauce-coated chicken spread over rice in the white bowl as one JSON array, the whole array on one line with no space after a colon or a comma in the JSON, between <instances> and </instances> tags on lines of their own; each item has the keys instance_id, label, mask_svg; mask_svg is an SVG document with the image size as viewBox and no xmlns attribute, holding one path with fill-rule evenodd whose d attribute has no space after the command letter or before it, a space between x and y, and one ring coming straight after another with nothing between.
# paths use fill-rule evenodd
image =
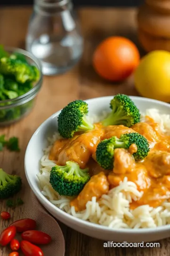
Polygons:
<instances>
[{"instance_id":1,"label":"creamy orange sauce-coated chicken spread over rice in the white bowl","mask_svg":"<svg viewBox=\"0 0 170 256\"><path fill-rule=\"evenodd\" d=\"M137 147L132 144L128 150L115 149L113 170L104 170L99 166L95 161L95 152L100 141L112 136L119 138L122 134L131 132L140 133L148 140L150 152L147 157L136 163L132 154L137 151ZM84 210L85 204L93 196L99 199L109 189L118 186L125 176L143 192L139 201L131 203L131 208L144 204L157 207L170 199L170 136L162 134L159 125L150 117L131 128L123 125L102 127L101 124L95 124L91 131L76 134L71 139L57 140L51 148L49 159L55 160L58 165L65 165L70 160L82 169L89 168L90 181L70 203L77 211Z\"/></svg>"}]
</instances>

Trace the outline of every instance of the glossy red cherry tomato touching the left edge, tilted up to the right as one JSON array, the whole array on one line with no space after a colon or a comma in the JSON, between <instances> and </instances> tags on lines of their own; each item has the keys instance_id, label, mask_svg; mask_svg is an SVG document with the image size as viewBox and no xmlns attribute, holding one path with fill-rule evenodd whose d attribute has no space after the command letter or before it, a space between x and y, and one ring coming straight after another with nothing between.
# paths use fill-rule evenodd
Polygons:
<instances>
[{"instance_id":1,"label":"glossy red cherry tomato touching the left edge, tilted up to the right","mask_svg":"<svg viewBox=\"0 0 170 256\"><path fill-rule=\"evenodd\" d=\"M16 235L16 227L8 227L7 229L4 229L2 233L0 234L0 245L6 246L8 243L15 237Z\"/></svg>"}]
</instances>

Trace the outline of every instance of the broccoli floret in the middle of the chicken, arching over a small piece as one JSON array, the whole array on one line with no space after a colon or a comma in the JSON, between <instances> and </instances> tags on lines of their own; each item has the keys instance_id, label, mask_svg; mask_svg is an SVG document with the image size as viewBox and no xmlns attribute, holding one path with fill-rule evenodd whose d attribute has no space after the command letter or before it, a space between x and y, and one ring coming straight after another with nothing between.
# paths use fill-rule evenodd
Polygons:
<instances>
[{"instance_id":1,"label":"broccoli floret in the middle of the chicken, arching over a small piece","mask_svg":"<svg viewBox=\"0 0 170 256\"><path fill-rule=\"evenodd\" d=\"M120 139L113 136L109 139L102 140L96 149L96 160L104 169L110 170L114 163L115 148L129 148L135 144L137 151L133 153L136 161L144 159L149 152L149 143L147 139L139 133L122 134Z\"/></svg>"}]
</instances>

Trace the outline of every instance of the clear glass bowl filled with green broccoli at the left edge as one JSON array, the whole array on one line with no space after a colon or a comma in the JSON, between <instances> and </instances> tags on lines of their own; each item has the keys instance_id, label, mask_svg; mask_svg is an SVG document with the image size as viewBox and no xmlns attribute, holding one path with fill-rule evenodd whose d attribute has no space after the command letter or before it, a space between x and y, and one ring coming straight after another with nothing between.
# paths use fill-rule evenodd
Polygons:
<instances>
[{"instance_id":1,"label":"clear glass bowl filled with green broccoli at the left edge","mask_svg":"<svg viewBox=\"0 0 170 256\"><path fill-rule=\"evenodd\" d=\"M0 46L0 126L28 114L41 86L41 63L34 55Z\"/></svg>"}]
</instances>

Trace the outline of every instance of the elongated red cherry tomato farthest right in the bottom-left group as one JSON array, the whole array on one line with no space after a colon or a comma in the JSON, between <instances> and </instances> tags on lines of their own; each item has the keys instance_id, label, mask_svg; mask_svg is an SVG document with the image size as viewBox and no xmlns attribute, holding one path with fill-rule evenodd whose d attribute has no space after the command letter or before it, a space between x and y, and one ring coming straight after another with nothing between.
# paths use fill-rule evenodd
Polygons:
<instances>
[{"instance_id":1,"label":"elongated red cherry tomato farthest right in the bottom-left group","mask_svg":"<svg viewBox=\"0 0 170 256\"><path fill-rule=\"evenodd\" d=\"M47 245L51 242L51 237L38 230L28 230L22 233L21 235L23 240L29 241L36 245Z\"/></svg>"}]
</instances>

